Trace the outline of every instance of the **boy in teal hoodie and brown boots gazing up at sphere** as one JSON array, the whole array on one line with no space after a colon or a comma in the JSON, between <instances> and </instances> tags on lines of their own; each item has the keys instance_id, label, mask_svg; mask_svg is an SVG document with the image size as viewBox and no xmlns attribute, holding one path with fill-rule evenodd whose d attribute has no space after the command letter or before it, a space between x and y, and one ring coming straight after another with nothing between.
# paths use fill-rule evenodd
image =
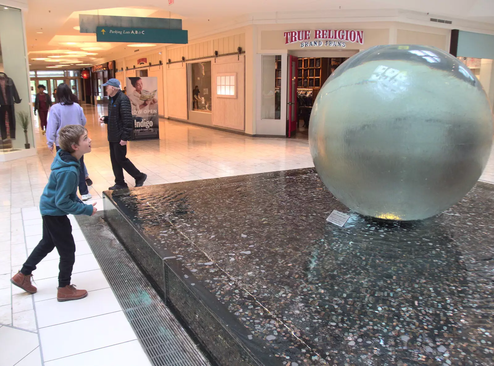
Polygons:
<instances>
[{"instance_id":1,"label":"boy in teal hoodie and brown boots gazing up at sphere","mask_svg":"<svg viewBox=\"0 0 494 366\"><path fill-rule=\"evenodd\" d=\"M50 178L41 194L43 237L22 269L10 281L28 293L36 293L36 287L31 284L31 273L56 248L60 255L57 299L69 301L86 297L87 291L77 290L70 284L76 260L76 244L67 215L92 216L96 213L96 203L86 205L77 196L79 160L82 155L91 152L91 139L87 137L87 130L81 125L65 126L60 129L59 144L61 149L51 164Z\"/></svg>"}]
</instances>

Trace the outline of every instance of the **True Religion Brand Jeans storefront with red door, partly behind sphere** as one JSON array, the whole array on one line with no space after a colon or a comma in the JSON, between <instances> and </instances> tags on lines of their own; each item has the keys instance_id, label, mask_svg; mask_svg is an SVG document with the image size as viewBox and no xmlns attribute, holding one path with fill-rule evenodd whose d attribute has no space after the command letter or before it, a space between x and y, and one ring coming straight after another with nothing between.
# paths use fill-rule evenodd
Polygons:
<instances>
[{"instance_id":1,"label":"True Religion Brand Jeans storefront with red door, partly behind sphere","mask_svg":"<svg viewBox=\"0 0 494 366\"><path fill-rule=\"evenodd\" d=\"M307 139L319 90L341 63L364 49L425 44L447 50L449 45L446 29L402 23L266 25L257 33L254 136Z\"/></svg>"}]
</instances>

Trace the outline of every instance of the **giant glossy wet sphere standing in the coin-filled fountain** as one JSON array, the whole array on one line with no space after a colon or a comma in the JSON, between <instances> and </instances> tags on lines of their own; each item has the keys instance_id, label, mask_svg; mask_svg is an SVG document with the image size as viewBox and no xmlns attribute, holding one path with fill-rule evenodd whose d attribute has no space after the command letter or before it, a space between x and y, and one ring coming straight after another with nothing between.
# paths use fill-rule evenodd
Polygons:
<instances>
[{"instance_id":1,"label":"giant glossy wet sphere standing in the coin-filled fountain","mask_svg":"<svg viewBox=\"0 0 494 366\"><path fill-rule=\"evenodd\" d=\"M418 220L457 203L484 170L493 115L475 75L435 47L384 45L346 60L315 101L314 165L350 209Z\"/></svg>"}]
</instances>

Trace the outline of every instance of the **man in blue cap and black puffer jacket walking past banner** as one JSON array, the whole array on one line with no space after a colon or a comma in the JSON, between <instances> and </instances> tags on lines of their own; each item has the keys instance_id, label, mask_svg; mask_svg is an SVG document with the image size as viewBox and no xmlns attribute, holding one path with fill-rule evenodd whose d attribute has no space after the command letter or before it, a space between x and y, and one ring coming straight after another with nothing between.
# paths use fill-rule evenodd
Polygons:
<instances>
[{"instance_id":1,"label":"man in blue cap and black puffer jacket walking past banner","mask_svg":"<svg viewBox=\"0 0 494 366\"><path fill-rule=\"evenodd\" d=\"M99 121L108 125L110 160L112 162L113 175L115 176L115 185L108 189L128 187L124 179L124 169L135 179L135 186L140 187L148 176L145 173L141 173L126 157L127 142L130 140L134 125L130 100L120 90L120 81L118 79L110 79L103 86L106 86L110 101L108 103L108 115L100 117Z\"/></svg>"}]
</instances>

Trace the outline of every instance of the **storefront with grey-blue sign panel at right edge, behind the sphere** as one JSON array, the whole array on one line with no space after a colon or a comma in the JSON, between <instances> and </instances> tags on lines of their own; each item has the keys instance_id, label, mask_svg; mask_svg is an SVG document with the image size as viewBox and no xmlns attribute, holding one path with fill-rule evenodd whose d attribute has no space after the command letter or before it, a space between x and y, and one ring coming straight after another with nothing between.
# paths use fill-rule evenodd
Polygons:
<instances>
[{"instance_id":1,"label":"storefront with grey-blue sign panel at right edge, behind the sphere","mask_svg":"<svg viewBox=\"0 0 494 366\"><path fill-rule=\"evenodd\" d=\"M494 106L494 35L451 31L450 53L457 56L479 79L491 108Z\"/></svg>"}]
</instances>

